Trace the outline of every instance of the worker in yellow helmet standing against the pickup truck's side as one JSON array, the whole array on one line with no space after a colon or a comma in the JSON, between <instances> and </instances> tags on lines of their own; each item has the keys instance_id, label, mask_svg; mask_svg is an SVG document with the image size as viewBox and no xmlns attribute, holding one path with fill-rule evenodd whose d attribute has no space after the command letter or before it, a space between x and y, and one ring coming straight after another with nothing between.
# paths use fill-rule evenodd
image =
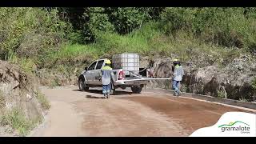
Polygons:
<instances>
[{"instance_id":1,"label":"worker in yellow helmet standing against the pickup truck's side","mask_svg":"<svg viewBox=\"0 0 256 144\"><path fill-rule=\"evenodd\" d=\"M111 78L114 78L112 72L111 62L109 59L105 60L105 66L102 67L101 80L102 80L102 93L104 98L110 98Z\"/></svg>"}]
</instances>

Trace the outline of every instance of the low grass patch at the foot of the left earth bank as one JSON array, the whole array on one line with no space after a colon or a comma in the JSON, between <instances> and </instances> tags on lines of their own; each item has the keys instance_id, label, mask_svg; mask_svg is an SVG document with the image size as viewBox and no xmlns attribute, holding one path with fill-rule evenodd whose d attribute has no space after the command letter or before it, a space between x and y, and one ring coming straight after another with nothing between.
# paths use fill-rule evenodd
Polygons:
<instances>
[{"instance_id":1,"label":"low grass patch at the foot of the left earth bank","mask_svg":"<svg viewBox=\"0 0 256 144\"><path fill-rule=\"evenodd\" d=\"M29 130L32 130L38 122L41 122L42 118L35 118L34 120L28 120L25 117L25 114L19 108L14 108L6 114L2 114L0 117L1 126L9 125L14 130L18 130L20 136L25 136L29 133Z\"/></svg>"}]
</instances>

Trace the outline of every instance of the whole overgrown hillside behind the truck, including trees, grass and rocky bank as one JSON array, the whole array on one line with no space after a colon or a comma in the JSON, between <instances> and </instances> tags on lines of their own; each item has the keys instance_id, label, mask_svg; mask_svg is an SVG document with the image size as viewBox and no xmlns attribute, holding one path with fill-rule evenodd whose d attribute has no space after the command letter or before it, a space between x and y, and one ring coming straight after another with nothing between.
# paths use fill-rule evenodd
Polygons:
<instances>
[{"instance_id":1,"label":"whole overgrown hillside behind the truck, including trees, grass and rocky bank","mask_svg":"<svg viewBox=\"0 0 256 144\"><path fill-rule=\"evenodd\" d=\"M136 52L155 65L179 58L186 91L255 100L255 8L0 8L0 18L1 59L42 85L76 84L92 60Z\"/></svg>"}]
</instances>

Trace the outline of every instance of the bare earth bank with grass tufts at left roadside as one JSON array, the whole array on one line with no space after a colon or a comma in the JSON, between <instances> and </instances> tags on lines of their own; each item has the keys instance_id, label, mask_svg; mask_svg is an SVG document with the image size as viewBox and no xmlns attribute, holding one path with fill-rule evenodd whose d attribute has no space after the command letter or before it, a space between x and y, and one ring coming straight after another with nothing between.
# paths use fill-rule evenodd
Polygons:
<instances>
[{"instance_id":1,"label":"bare earth bank with grass tufts at left roadside","mask_svg":"<svg viewBox=\"0 0 256 144\"><path fill-rule=\"evenodd\" d=\"M29 134L50 108L37 78L19 66L0 61L0 87L0 136Z\"/></svg>"}]
</instances>

